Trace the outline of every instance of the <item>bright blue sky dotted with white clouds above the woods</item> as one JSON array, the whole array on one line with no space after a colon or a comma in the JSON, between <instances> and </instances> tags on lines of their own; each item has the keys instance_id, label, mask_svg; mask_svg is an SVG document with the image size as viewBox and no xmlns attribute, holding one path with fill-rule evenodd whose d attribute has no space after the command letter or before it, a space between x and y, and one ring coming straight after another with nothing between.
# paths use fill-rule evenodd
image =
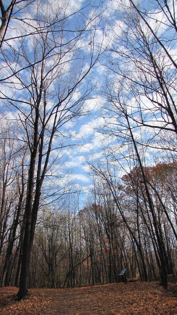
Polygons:
<instances>
[{"instance_id":1,"label":"bright blue sky dotted with white clouds above the woods","mask_svg":"<svg viewBox=\"0 0 177 315\"><path fill-rule=\"evenodd\" d=\"M10 3L10 1L5 1L4 5L7 6ZM37 2L36 2L37 3ZM44 2L43 2L44 3ZM58 0L52 1L49 0L49 3L53 5L53 8L57 6ZM62 4L63 8L66 5L66 1L62 0L60 1L60 5ZM81 7L84 7L87 4L86 1L71 1L70 6L66 8L67 14L72 14L75 12L76 9L80 9ZM152 29L157 31L157 35L161 36L163 39L165 37L171 36L171 41L166 44L168 51L172 56L176 56L177 53L177 46L176 46L176 36L171 31L171 28L169 27L168 23L168 13L162 12L162 10L157 9L157 2L150 2L150 1L142 1L141 4L144 6L147 10L147 19L150 21L150 25ZM169 1L169 7L171 7L173 4L173 1ZM46 5L46 2L45 2ZM50 12L47 12L47 6L45 7L43 4L43 14L49 14L50 17L53 16L53 14L56 14L55 10L51 9ZM71 139L66 142L66 144L72 145L71 149L68 148L64 149L65 157L66 159L66 167L69 169L72 169L72 179L76 180L78 183L78 187L80 186L81 190L87 192L89 190L90 185L90 179L87 174L89 171L88 164L85 162L86 159L92 159L92 156L94 155L94 159L100 160L103 157L104 160L104 148L106 146L109 147L109 150L115 150L116 146L116 140L114 140L113 137L107 137L107 135L103 134L101 132L101 129L106 127L106 125L109 124L109 126L112 126L112 128L116 128L116 119L115 117L110 118L108 113L108 103L106 100L106 95L104 94L104 86L106 82L106 76L110 80L110 82L115 82L115 87L118 86L117 82L120 80L119 74L116 73L117 67L119 65L119 70L122 71L129 71L129 69L133 69L133 63L131 63L128 58L126 58L126 54L129 54L128 49L131 49L132 42L134 41L134 48L138 48L139 42L138 39L135 37L135 34L133 33L134 29L133 26L131 28L131 25L127 25L126 21L124 20L124 14L128 14L128 10L126 11L126 8L130 7L130 2L128 0L108 0L108 1L92 1L91 6L89 5L83 10L84 15L76 14L74 16L71 15L71 17L68 19L68 23L66 26L64 26L65 36L63 37L63 40L70 39L71 34L73 34L71 31L75 29L75 32L78 31L78 22L80 23L80 26L83 26L84 24L87 25L85 35L81 36L79 40L77 41L77 53L76 58L74 58L71 62L70 55L66 54L65 59L63 58L63 62L58 66L57 64L57 58L55 58L55 53L58 53L60 50L58 47L54 49L54 54L49 60L48 65L46 69L49 69L56 63L56 69L58 66L58 73L54 72L54 75L56 76L55 83L51 84L51 89L49 91L49 103L48 108L49 112L51 111L51 108L54 104L54 102L57 102L57 97L54 96L54 91L59 91L60 89L63 89L65 91L65 83L68 80L68 85L71 88L75 76L81 75L84 71L87 71L89 58L90 58L90 52L92 51L93 45L94 45L94 56L98 53L100 47L101 47L101 54L100 60L95 64L95 66L92 68L90 72L90 77L92 78L92 84L95 85L95 89L90 95L90 99L85 100L83 104L83 110L85 112L89 112L88 115L80 116L77 120L71 119L70 122L66 123L65 127L62 127L61 130L63 132L63 135L69 132L71 134ZM52 7L51 7L52 8ZM175 5L176 8L176 5ZM31 16L35 17L37 14L37 9L34 9L31 5L30 10L29 8L19 11L16 16L19 18L23 18L24 21L30 21ZM175 9L176 10L176 9ZM176 10L177 11L177 10ZM176 14L176 11L174 14ZM46 13L47 12L47 13ZM158 12L158 13L157 13ZM59 14L63 14L63 12L59 12ZM15 14L14 14L15 17ZM79 20L82 19L82 20ZM89 19L92 20L92 22L88 23ZM157 20L158 19L158 20ZM21 23L21 20L15 20L12 19L10 22L10 28L9 33L7 33L7 36L9 37L16 37L20 34L25 34L26 31L31 30L31 25L33 23L33 28L36 27L36 22L31 21L30 23ZM45 23L44 23L45 24ZM18 27L19 26L19 27ZM146 27L146 24L142 22L142 29L144 30L144 33L146 33L148 36L151 36L149 34L149 30ZM69 32L68 32L69 30ZM125 32L125 33L124 33ZM128 33L129 39L132 38L132 42L130 41L130 46L126 45L126 36L124 36ZM57 38L58 42L60 43L60 38ZM40 43L40 41L39 41ZM52 43L52 39L51 39ZM50 44L51 44L50 43ZM63 42L62 42L63 43ZM11 45L11 46L8 46ZM24 47L26 49L26 55L31 59L31 61L35 59L35 54L33 54L33 38L32 37L26 37L24 42ZM0 77L1 79L3 77L6 77L8 74L14 71L14 69L18 69L20 66L25 64L26 60L22 58L19 55L18 60L15 59L10 64L9 67L5 67L4 60L7 58L7 54L9 53L8 58L13 58L12 49L16 49L20 51L20 43L18 40L12 40L9 39L7 44L4 44L3 47L4 51L6 51L6 55L3 56L1 60L1 73ZM106 52L104 52L104 49L106 49ZM58 49L58 50L57 50ZM79 52L79 54L78 54ZM118 53L117 53L118 52ZM40 49L38 50L38 53L40 54ZM158 51L159 56L161 53L161 49ZM11 55L10 55L11 54ZM156 54L156 48L155 48L155 54ZM73 54L74 56L74 54ZM84 66L82 68L82 71L80 70L80 63L82 62L82 58L84 56ZM21 58L21 59L20 59ZM166 74L168 73L168 78L170 80L170 75L173 76L173 66L169 62L169 60L165 59L166 57L162 54L161 57L159 57L159 62L166 62ZM67 61L67 62L66 62ZM109 68L107 67L109 66ZM73 71L73 67L75 67L75 70ZM127 68L126 68L127 67ZM132 68L131 68L132 67ZM37 71L37 70L36 70ZM80 72L79 72L80 71ZM59 73L60 72L60 73ZM72 76L71 76L72 73ZM29 84L29 73L28 70L23 70L20 72L21 77L20 79L24 80L24 83L26 86ZM77 74L77 75L76 75ZM137 78L138 72L135 71L135 76ZM151 78L150 78L151 79ZM2 84L1 85L1 93L4 95L8 95L9 98L14 97L14 90L16 89L20 83L19 78L16 77L12 79L8 84ZM63 80L63 81L62 81ZM58 84L60 82L60 84ZM89 82L89 87L91 86ZM87 80L83 81L83 85L81 87L78 87L78 89L75 91L75 94L72 95L71 101L77 101L79 99L82 90L84 90L85 85L88 83ZM58 85L57 85L58 84ZM116 85L117 84L117 85ZM129 112L132 111L132 118L135 117L135 113L137 110L137 98L136 95L130 95L129 93L129 87L128 82L124 85L124 95L127 97L127 106L129 108ZM173 84L172 84L173 86ZM81 90L80 90L81 88ZM21 100L21 112L17 111L14 107L14 110L12 110L12 106L9 105L6 109L6 116L8 113L8 119L12 119L13 121L17 121L17 117L19 115L23 116L23 112L28 112L30 106L30 97L28 94L28 90L25 89L25 85L23 85L23 89L16 89L16 98L18 96L19 102ZM175 90L175 87L174 87ZM24 92L25 91L25 92ZM64 92L63 92L64 93ZM1 95L2 96L2 95ZM4 96L3 96L4 97ZM2 97L2 98L3 98ZM157 98L159 95L157 95ZM22 102L22 98L26 98L26 105L25 102ZM151 109L151 102L147 100L143 95L141 97L140 103L144 106L144 112L146 113L146 117L151 117L151 112L148 112ZM4 103L5 104L5 103ZM11 103L10 103L11 104ZM1 105L2 106L2 105ZM7 106L4 105L4 106ZM3 108L4 110L4 108ZM154 117L151 118L151 123L153 124L157 119L157 112ZM160 115L159 115L160 117ZM21 118L20 118L21 119ZM156 122L157 123L157 122ZM158 123L162 123L158 121ZM67 130L67 131L66 131ZM142 132L142 133L141 133ZM146 136L143 134L143 130L138 126L137 128L134 128L134 136L136 139L140 139L140 136L143 135L144 141L147 140L148 136L150 135L150 132L147 132L146 129ZM24 135L23 135L24 136ZM47 137L47 136L46 136ZM147 138L146 138L147 137ZM47 138L46 138L47 139ZM141 138L142 139L142 138ZM47 141L47 140L46 140ZM78 146L77 146L78 144ZM118 144L119 145L119 144ZM128 147L124 147L125 151L120 150L119 148L119 154L121 156L126 155L126 150L129 150ZM128 152L128 151L127 151ZM157 152L156 152L157 153ZM150 156L151 155L151 156ZM146 152L147 160L153 160L153 153L151 154L150 150ZM153 163L153 161L152 161ZM126 161L125 161L126 164ZM81 207L83 207L82 201L81 201Z\"/></svg>"}]
</instances>

